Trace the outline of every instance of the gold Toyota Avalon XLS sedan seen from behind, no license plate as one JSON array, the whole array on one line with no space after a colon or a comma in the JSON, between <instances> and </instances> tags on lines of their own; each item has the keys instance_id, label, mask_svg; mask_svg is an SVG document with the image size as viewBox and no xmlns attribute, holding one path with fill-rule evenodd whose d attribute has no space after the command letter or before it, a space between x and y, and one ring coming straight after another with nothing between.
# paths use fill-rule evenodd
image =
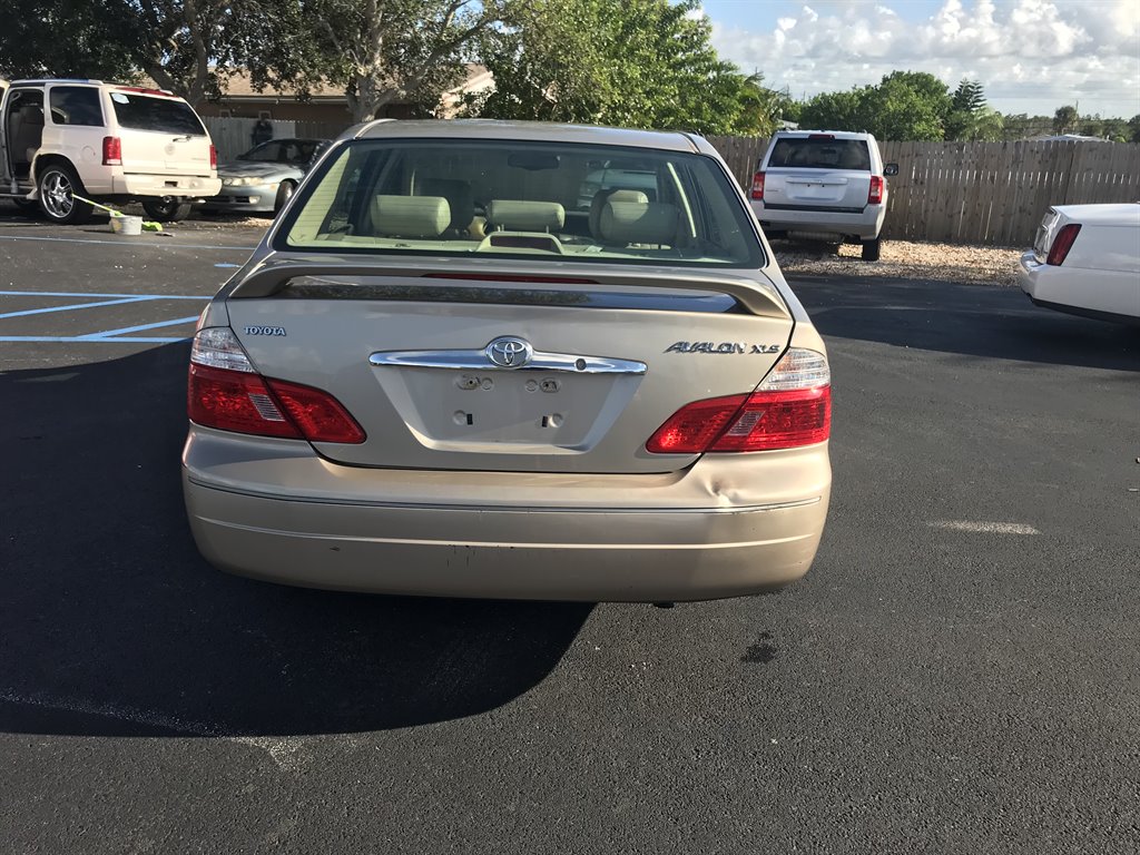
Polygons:
<instances>
[{"instance_id":1,"label":"gold Toyota Avalon XLS sedan seen from behind, no license plate","mask_svg":"<svg viewBox=\"0 0 1140 855\"><path fill-rule=\"evenodd\" d=\"M202 315L186 507L290 585L681 601L803 576L823 341L689 133L382 120Z\"/></svg>"}]
</instances>

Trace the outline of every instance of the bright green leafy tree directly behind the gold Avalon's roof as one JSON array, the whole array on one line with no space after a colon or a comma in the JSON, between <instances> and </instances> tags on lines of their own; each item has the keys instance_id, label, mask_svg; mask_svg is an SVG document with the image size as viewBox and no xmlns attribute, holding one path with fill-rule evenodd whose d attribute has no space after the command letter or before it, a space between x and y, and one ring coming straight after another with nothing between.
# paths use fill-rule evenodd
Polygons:
<instances>
[{"instance_id":1,"label":"bright green leafy tree directly behind the gold Avalon's roof","mask_svg":"<svg viewBox=\"0 0 1140 855\"><path fill-rule=\"evenodd\" d=\"M495 91L469 115L767 135L780 97L717 57L695 0L513 0L480 60Z\"/></svg>"}]
</instances>

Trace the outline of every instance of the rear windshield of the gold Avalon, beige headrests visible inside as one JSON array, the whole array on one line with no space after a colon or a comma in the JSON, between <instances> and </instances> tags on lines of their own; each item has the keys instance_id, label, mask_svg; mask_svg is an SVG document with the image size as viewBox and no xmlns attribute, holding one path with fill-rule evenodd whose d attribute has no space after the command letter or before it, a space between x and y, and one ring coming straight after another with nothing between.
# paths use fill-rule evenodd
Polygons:
<instances>
[{"instance_id":1,"label":"rear windshield of the gold Avalon, beige headrests visible inside","mask_svg":"<svg viewBox=\"0 0 1140 855\"><path fill-rule=\"evenodd\" d=\"M757 268L731 181L712 158L678 152L357 140L323 164L275 245Z\"/></svg>"}]
</instances>

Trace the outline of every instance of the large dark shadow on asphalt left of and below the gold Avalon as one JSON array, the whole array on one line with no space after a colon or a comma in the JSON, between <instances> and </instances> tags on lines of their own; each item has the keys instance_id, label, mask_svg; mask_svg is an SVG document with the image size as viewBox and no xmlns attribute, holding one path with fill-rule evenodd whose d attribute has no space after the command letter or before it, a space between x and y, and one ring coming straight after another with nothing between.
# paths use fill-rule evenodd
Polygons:
<instances>
[{"instance_id":1,"label":"large dark shadow on asphalt left of and below the gold Avalon","mask_svg":"<svg viewBox=\"0 0 1140 855\"><path fill-rule=\"evenodd\" d=\"M0 374L0 731L375 731L494 709L557 665L591 605L306 591L206 564L179 481L187 358Z\"/></svg>"}]
</instances>

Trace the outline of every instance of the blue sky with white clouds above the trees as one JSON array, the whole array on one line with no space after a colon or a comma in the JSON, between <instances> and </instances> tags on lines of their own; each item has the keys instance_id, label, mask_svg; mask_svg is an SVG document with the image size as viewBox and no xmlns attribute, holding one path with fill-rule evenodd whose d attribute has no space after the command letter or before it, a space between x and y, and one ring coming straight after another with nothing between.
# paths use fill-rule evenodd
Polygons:
<instances>
[{"instance_id":1,"label":"blue sky with white clouds above the trees","mask_svg":"<svg viewBox=\"0 0 1140 855\"><path fill-rule=\"evenodd\" d=\"M703 0L712 44L795 98L925 71L991 107L1140 114L1140 0Z\"/></svg>"}]
</instances>

